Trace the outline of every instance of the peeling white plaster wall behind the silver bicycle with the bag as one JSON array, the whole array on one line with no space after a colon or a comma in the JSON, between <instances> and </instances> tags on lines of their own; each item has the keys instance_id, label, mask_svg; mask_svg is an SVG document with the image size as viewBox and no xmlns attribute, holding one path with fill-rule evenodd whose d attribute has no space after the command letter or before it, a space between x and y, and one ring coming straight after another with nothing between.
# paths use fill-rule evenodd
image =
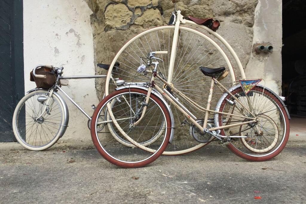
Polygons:
<instances>
[{"instance_id":1,"label":"peeling white plaster wall behind the silver bicycle with the bag","mask_svg":"<svg viewBox=\"0 0 306 204\"><path fill-rule=\"evenodd\" d=\"M24 2L25 91L35 88L30 71L39 64L63 66L64 75L95 75L92 11L82 0L25 0ZM91 116L98 104L95 80L69 80L63 87ZM65 96L64 96L65 97ZM90 139L88 119L65 99L69 127L63 139Z\"/></svg>"}]
</instances>

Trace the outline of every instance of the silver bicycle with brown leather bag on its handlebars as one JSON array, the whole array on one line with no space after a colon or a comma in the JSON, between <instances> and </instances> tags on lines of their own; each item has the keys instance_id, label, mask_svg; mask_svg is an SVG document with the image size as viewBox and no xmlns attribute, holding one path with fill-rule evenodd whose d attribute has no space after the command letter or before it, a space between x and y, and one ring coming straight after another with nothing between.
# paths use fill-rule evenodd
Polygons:
<instances>
[{"instance_id":1,"label":"silver bicycle with brown leather bag on its handlebars","mask_svg":"<svg viewBox=\"0 0 306 204\"><path fill-rule=\"evenodd\" d=\"M88 118L90 127L90 115L73 101L61 86L67 85L64 80L68 79L106 78L106 75L62 76L63 69L52 65L37 65L30 75L31 80L36 83L36 88L28 91L15 108L13 132L17 141L29 150L45 150L64 135L68 127L69 110L58 92L67 97ZM119 79L113 80L117 83L123 82Z\"/></svg>"}]
</instances>

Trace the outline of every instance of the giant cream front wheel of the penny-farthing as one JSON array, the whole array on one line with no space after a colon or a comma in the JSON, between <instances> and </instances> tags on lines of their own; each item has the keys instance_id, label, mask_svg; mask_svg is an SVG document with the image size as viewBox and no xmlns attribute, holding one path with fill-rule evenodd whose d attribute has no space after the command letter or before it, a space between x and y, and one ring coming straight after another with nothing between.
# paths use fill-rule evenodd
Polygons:
<instances>
[{"instance_id":1,"label":"giant cream front wheel of the penny-farthing","mask_svg":"<svg viewBox=\"0 0 306 204\"><path fill-rule=\"evenodd\" d=\"M141 57L146 57L147 53L152 51L168 51L168 55L158 55L163 60L160 61L158 71L160 75L167 80L169 77L169 64L174 36L174 26L161 26L149 29L126 43L114 58L108 75L106 78L105 93L108 95L116 87L113 78L122 78L126 82L149 82L147 76L143 76L137 72L137 68L144 62ZM118 62L119 67L113 69L114 64ZM229 75L222 80L222 84L231 87L235 81L235 73L230 61L223 50L207 35L187 27L180 27L179 38L177 43L176 58L174 70L171 72L171 82L174 86L185 95L190 97L199 105L206 107L208 100L209 87L211 78L204 76L199 67L206 66L210 68L226 67ZM138 74L137 74L138 73ZM170 76L171 77L171 76ZM163 83L155 80L160 87ZM222 95L218 89L214 94ZM179 95L175 95L186 107L189 104L185 102ZM217 99L211 102L212 108L216 105ZM166 155L186 154L188 152L199 149L207 143L196 142L192 135L189 135L189 125L185 124L187 119L170 104L172 113L174 114L174 140L172 145L168 146L163 153ZM203 119L202 112L192 110L197 119ZM213 116L211 116L213 118ZM212 122L212 125L214 123Z\"/></svg>"}]
</instances>

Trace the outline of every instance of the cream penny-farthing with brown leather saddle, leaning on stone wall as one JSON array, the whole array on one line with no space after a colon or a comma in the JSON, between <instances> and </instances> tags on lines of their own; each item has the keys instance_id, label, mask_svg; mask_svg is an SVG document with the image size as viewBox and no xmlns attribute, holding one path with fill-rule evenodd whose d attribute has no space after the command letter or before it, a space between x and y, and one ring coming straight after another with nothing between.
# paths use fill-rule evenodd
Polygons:
<instances>
[{"instance_id":1,"label":"cream penny-farthing with brown leather saddle, leaning on stone wall","mask_svg":"<svg viewBox=\"0 0 306 204\"><path fill-rule=\"evenodd\" d=\"M172 2L175 3L176 1ZM229 74L222 81L222 84L226 88L232 87L237 79L245 78L237 54L226 40L215 32L217 28L218 21L211 18L183 17L181 11L175 8L167 26L151 28L142 32L129 40L119 50L106 77L105 95L109 95L118 87L113 82L112 76L121 77L130 83L126 87L135 87L135 83L142 83L144 87L147 86L147 76L137 72L139 65L143 63L143 58L147 57L147 53L167 51L168 54L166 55L155 55L162 60L159 64L159 72L162 78L185 95L194 97L198 104L205 107L207 103L205 93L209 91L210 80L200 74L199 67L206 66L213 69L221 66L225 67ZM114 66L116 63L120 66ZM235 66L233 67L232 64ZM164 85L159 79L156 79L155 83L161 87ZM215 90L215 94L221 95L222 91ZM186 105L184 100L181 100L181 102ZM212 107L215 107L217 101L213 100L211 103ZM175 128L173 131L175 137L173 145L169 146L163 154L186 154L205 146L207 143L199 143L190 134L186 134L186 131L189 131L189 126L185 125L187 118L178 114L179 111L176 107L171 104L170 106L174 113ZM200 112L194 114L201 115ZM214 119L210 118L209 123L213 126ZM114 131L115 128L111 124L107 124L107 127L119 143L133 147L132 144Z\"/></svg>"}]
</instances>

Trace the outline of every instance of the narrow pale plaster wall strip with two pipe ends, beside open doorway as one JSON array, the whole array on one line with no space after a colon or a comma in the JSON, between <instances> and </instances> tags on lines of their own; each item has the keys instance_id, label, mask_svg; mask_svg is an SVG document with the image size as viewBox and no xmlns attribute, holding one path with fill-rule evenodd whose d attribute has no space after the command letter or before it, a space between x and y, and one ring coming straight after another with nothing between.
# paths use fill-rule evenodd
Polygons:
<instances>
[{"instance_id":1,"label":"narrow pale plaster wall strip with two pipe ends, beside open doorway","mask_svg":"<svg viewBox=\"0 0 306 204\"><path fill-rule=\"evenodd\" d=\"M282 0L259 0L253 30L253 44L269 43L274 47L274 51L271 54L257 54L253 51L245 75L248 78L265 79L266 86L281 95Z\"/></svg>"}]
</instances>

